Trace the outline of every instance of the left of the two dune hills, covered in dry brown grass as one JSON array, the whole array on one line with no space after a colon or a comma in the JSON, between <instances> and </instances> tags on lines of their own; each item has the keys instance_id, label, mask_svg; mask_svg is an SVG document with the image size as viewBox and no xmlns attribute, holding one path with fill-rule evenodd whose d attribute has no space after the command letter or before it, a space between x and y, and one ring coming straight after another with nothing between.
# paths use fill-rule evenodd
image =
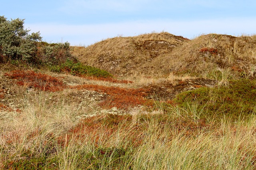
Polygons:
<instances>
[{"instance_id":1,"label":"left of the two dune hills, covered in dry brown grass","mask_svg":"<svg viewBox=\"0 0 256 170\"><path fill-rule=\"evenodd\" d=\"M86 48L74 47L72 53L82 63L114 75L148 74L166 71L168 62L162 62L162 57L185 41L189 40L166 32L150 33L137 37L110 38Z\"/></svg>"}]
</instances>

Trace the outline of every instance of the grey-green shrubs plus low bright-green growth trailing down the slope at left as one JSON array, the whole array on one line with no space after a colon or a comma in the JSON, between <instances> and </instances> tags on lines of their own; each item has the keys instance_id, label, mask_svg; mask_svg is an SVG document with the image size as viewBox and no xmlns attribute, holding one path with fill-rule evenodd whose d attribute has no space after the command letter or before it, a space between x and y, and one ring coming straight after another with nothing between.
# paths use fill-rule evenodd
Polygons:
<instances>
[{"instance_id":1,"label":"grey-green shrubs plus low bright-green growth trailing down the slope at left","mask_svg":"<svg viewBox=\"0 0 256 170\"><path fill-rule=\"evenodd\" d=\"M29 34L24 29L24 20L8 21L0 16L0 63L26 63L47 66L57 72L108 78L112 75L105 70L79 63L70 53L70 43L47 43L40 33Z\"/></svg>"}]
</instances>

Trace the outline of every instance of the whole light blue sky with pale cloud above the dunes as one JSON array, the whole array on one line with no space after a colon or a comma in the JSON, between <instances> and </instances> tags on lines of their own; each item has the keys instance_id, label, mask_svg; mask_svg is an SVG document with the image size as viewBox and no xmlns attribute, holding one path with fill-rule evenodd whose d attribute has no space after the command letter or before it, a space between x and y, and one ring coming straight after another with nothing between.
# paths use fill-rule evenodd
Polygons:
<instances>
[{"instance_id":1,"label":"whole light blue sky with pale cloud above the dunes","mask_svg":"<svg viewBox=\"0 0 256 170\"><path fill-rule=\"evenodd\" d=\"M152 31L194 38L256 33L255 0L1 0L0 15L25 19L43 41L91 45Z\"/></svg>"}]
</instances>

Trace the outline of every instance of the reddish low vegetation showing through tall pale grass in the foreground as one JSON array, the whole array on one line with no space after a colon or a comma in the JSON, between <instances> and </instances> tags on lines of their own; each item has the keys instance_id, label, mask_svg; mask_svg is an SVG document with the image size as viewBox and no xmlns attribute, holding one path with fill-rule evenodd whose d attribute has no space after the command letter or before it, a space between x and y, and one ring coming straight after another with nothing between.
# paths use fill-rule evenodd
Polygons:
<instances>
[{"instance_id":1,"label":"reddish low vegetation showing through tall pale grass in the foreground","mask_svg":"<svg viewBox=\"0 0 256 170\"><path fill-rule=\"evenodd\" d=\"M205 121L201 120L198 123L186 118L170 121L167 115L140 115L140 118L133 122L132 115L107 114L82 120L74 128L70 129L68 133L60 136L58 143L59 145L67 146L70 140L78 140L81 143L93 144L95 147L98 147L98 143L110 147L112 144L109 141L112 141L118 135L120 141L126 141L132 147L139 147L143 145L148 133L152 133L148 128L151 121L158 122L161 125L157 127L159 133L155 136L159 141L166 140L166 138L162 138L162 133L166 131L166 127L170 128L170 131L179 131L186 136L198 135L198 129L212 128L212 125L206 124ZM172 140L172 137L170 134L168 139ZM124 145L127 146L125 143Z\"/></svg>"}]
</instances>

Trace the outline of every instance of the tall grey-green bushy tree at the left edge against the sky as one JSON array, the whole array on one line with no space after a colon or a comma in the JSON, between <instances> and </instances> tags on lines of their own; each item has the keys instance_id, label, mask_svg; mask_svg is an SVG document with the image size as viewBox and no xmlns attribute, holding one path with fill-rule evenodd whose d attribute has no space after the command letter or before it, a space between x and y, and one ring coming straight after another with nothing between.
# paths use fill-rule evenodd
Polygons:
<instances>
[{"instance_id":1,"label":"tall grey-green bushy tree at the left edge against the sky","mask_svg":"<svg viewBox=\"0 0 256 170\"><path fill-rule=\"evenodd\" d=\"M0 16L0 63L8 60L35 61L40 33L29 34L24 20L8 21ZM33 62L34 63L34 62Z\"/></svg>"}]
</instances>

